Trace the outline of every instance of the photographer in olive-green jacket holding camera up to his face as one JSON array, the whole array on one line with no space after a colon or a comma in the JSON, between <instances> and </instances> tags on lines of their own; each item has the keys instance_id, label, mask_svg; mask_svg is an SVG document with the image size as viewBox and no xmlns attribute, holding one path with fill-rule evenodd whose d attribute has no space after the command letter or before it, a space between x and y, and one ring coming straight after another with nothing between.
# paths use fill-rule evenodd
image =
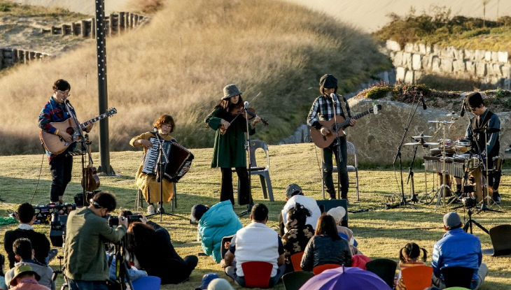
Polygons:
<instances>
[{"instance_id":1,"label":"photographer in olive-green jacket holding camera up to his face","mask_svg":"<svg viewBox=\"0 0 511 290\"><path fill-rule=\"evenodd\" d=\"M127 231L127 219L119 216L114 229L104 219L116 209L113 194L101 191L90 200L88 208L74 210L66 224L64 275L71 290L108 289L109 265L104 242L118 242Z\"/></svg>"}]
</instances>

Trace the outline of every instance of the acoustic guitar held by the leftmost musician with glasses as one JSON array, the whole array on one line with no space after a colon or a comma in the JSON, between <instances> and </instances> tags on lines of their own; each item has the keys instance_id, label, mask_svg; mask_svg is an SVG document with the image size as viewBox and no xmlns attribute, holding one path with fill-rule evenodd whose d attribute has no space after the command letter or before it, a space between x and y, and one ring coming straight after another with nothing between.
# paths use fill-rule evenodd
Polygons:
<instances>
[{"instance_id":1,"label":"acoustic guitar held by the leftmost musician with glasses","mask_svg":"<svg viewBox=\"0 0 511 290\"><path fill-rule=\"evenodd\" d=\"M108 111L106 111L106 113L103 113L102 115L90 119L82 124L78 124L78 126L80 126L80 129L85 130L85 128L87 128L87 126L89 126L90 124L97 122L100 119L110 117L111 115L114 115L116 113L117 109L111 108ZM66 133L71 135L71 141L66 141L61 136L57 136L55 134L41 130L39 132L39 138L41 138L41 143L43 143L43 146L48 152L52 154L60 154L64 152L64 150L66 150L67 147L69 147L69 145L75 143L80 139L80 134L78 133L79 132L78 126L74 122L73 118L68 118L63 122L51 122L50 124L57 128L59 131L65 131Z\"/></svg>"}]
</instances>

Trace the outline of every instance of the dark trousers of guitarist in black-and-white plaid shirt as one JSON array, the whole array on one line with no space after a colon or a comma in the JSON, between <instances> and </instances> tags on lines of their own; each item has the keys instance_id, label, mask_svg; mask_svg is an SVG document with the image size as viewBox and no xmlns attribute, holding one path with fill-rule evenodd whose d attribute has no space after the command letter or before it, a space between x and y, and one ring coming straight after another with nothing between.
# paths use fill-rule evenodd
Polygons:
<instances>
[{"instance_id":1,"label":"dark trousers of guitarist in black-and-white plaid shirt","mask_svg":"<svg viewBox=\"0 0 511 290\"><path fill-rule=\"evenodd\" d=\"M335 142L334 142L335 143ZM341 179L341 198L348 198L349 180L348 180L348 151L346 145L346 136L340 137L341 160L337 154L337 144L332 144L323 148L323 180L325 180L326 191L331 198L335 198L335 187L332 180L332 154L337 162L337 171Z\"/></svg>"}]
</instances>

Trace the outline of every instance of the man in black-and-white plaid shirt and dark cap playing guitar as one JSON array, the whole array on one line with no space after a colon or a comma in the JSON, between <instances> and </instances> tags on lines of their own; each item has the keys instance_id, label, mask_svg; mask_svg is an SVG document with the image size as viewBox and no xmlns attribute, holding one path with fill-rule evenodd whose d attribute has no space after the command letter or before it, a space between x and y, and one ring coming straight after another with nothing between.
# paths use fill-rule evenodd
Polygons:
<instances>
[{"instance_id":1,"label":"man in black-and-white plaid shirt and dark cap playing guitar","mask_svg":"<svg viewBox=\"0 0 511 290\"><path fill-rule=\"evenodd\" d=\"M330 131L325 126L322 126L319 121L328 121L334 117L334 110L332 108L332 97L330 94L335 94L335 115L342 116L344 119L351 117L351 111L349 110L349 104L344 96L337 94L337 79L333 75L323 75L319 80L319 92L321 96L318 96L314 103L312 103L311 110L307 116L307 124L320 130L323 136L327 136ZM339 101L344 102L342 106ZM356 124L356 119L351 119L349 122L350 126ZM338 174L341 179L341 198L348 198L348 169L346 167L347 162L347 150L346 150L346 136L339 138L340 141L340 160L337 152L337 138L330 144L330 146L323 148L323 180L325 180L326 191L330 194L330 199L335 199L335 187L332 180L332 154L335 155L337 161Z\"/></svg>"}]
</instances>

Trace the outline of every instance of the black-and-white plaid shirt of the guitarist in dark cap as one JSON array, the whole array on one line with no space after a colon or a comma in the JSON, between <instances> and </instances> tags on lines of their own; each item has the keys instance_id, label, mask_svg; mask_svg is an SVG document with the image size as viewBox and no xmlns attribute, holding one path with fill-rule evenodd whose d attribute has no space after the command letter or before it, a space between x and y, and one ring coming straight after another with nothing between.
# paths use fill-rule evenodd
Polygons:
<instances>
[{"instance_id":1,"label":"black-and-white plaid shirt of the guitarist in dark cap","mask_svg":"<svg viewBox=\"0 0 511 290\"><path fill-rule=\"evenodd\" d=\"M338 94L337 100L341 97L342 101L344 101L346 105L346 110L348 111L348 117L351 117L351 110L349 109L349 104L344 96L339 96ZM342 106L339 102L335 103L335 115L340 115L346 118L344 112L342 112ZM332 99L329 96L318 96L314 103L312 103L311 110L309 111L309 115L307 116L307 124L316 129L321 129L321 124L318 121L328 121L334 117L332 110Z\"/></svg>"}]
</instances>

